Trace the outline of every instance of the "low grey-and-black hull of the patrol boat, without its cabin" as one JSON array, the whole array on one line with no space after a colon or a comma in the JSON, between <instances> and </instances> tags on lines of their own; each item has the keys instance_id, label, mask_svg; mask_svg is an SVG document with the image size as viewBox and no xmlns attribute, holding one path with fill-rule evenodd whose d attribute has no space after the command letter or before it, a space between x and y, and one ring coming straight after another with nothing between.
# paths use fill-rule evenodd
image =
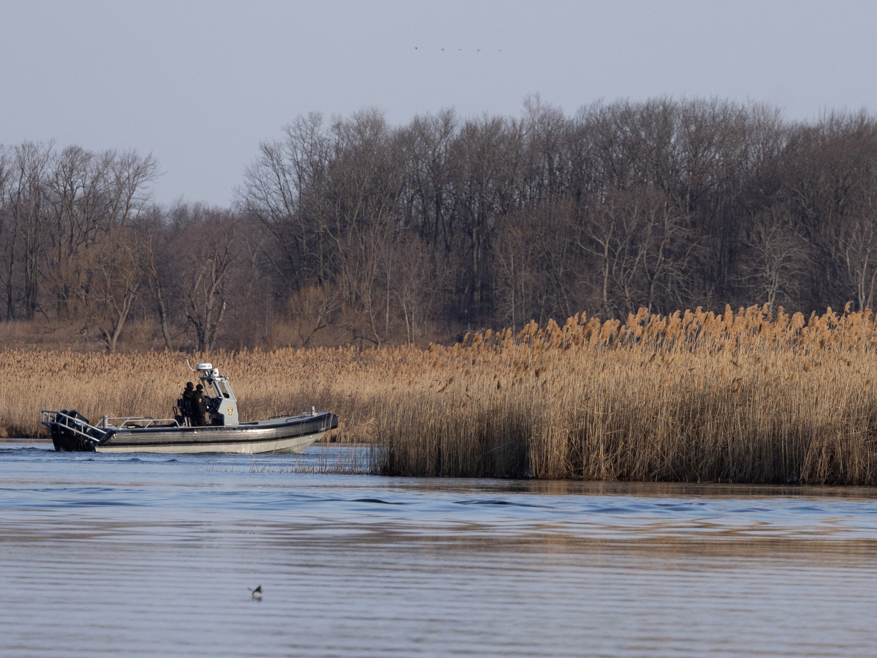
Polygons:
<instances>
[{"instance_id":1,"label":"low grey-and-black hull of the patrol boat, without its cabin","mask_svg":"<svg viewBox=\"0 0 877 658\"><path fill-rule=\"evenodd\" d=\"M103 440L83 439L64 426L52 427L55 450L98 453L301 453L324 433L338 426L338 416L290 417L239 426L118 427Z\"/></svg>"}]
</instances>

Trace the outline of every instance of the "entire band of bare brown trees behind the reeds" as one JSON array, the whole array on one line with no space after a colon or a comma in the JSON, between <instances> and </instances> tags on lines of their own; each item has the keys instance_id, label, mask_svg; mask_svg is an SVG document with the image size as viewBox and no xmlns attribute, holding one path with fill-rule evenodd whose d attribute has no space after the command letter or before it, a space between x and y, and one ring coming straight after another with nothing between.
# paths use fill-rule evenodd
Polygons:
<instances>
[{"instance_id":1,"label":"entire band of bare brown trees behind the reeds","mask_svg":"<svg viewBox=\"0 0 877 658\"><path fill-rule=\"evenodd\" d=\"M137 154L0 163L5 318L170 348L423 341L578 311L873 305L877 118L538 97L519 118L297 118L233 208L162 208ZM217 342L218 341L218 342Z\"/></svg>"}]
</instances>

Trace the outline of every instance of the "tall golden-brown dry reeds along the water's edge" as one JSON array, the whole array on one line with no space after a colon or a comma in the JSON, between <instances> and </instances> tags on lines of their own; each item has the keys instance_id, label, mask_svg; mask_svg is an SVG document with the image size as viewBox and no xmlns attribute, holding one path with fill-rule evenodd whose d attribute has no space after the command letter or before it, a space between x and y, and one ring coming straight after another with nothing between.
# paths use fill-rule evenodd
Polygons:
<instances>
[{"instance_id":1,"label":"tall golden-brown dry reeds along the water's edge","mask_svg":"<svg viewBox=\"0 0 877 658\"><path fill-rule=\"evenodd\" d=\"M752 307L473 334L453 347L211 354L249 418L337 411L370 468L423 476L877 483L872 311ZM178 354L0 354L0 425L40 406L167 416Z\"/></svg>"}]
</instances>

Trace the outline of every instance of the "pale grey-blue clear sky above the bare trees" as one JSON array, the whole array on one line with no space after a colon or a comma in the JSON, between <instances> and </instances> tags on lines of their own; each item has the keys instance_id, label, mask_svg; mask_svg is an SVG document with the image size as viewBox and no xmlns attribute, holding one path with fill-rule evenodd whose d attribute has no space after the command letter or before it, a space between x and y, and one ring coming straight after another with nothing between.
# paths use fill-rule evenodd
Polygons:
<instances>
[{"instance_id":1,"label":"pale grey-blue clear sky above the bare trees","mask_svg":"<svg viewBox=\"0 0 877 658\"><path fill-rule=\"evenodd\" d=\"M0 143L136 147L165 172L156 200L227 204L260 140L308 111L517 115L534 92L570 113L665 94L874 110L875 19L873 2L0 0Z\"/></svg>"}]
</instances>

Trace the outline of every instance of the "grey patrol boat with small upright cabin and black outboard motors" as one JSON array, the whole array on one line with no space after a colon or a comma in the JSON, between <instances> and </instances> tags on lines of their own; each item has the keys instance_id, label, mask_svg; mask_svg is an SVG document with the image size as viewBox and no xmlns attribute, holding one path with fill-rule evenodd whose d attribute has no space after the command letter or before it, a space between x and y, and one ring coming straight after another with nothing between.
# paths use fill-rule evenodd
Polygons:
<instances>
[{"instance_id":1,"label":"grey patrol boat with small upright cabin and black outboard motors","mask_svg":"<svg viewBox=\"0 0 877 658\"><path fill-rule=\"evenodd\" d=\"M198 378L207 401L210 425L191 426L183 411L174 418L104 416L97 425L76 411L42 410L58 451L98 453L301 453L324 433L338 427L338 416L328 411L267 420L240 422L238 400L228 377L212 363L197 363Z\"/></svg>"}]
</instances>

